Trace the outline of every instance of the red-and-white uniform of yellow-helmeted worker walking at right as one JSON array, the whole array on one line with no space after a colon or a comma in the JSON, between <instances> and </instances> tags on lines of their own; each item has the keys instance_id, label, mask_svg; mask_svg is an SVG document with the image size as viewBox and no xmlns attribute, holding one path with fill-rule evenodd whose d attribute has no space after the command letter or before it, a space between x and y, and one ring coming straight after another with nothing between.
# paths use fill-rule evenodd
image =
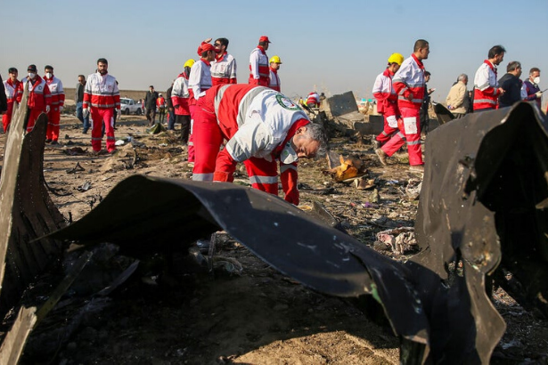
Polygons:
<instances>
[{"instance_id":1,"label":"red-and-white uniform of yellow-helmeted worker walking at right","mask_svg":"<svg viewBox=\"0 0 548 365\"><path fill-rule=\"evenodd\" d=\"M397 93L392 85L392 77L394 74L389 69L385 69L375 79L372 90L373 96L377 100L377 111L384 117L384 128L376 137L380 143L388 142L392 134L398 130L399 109L397 108Z\"/></svg>"}]
</instances>

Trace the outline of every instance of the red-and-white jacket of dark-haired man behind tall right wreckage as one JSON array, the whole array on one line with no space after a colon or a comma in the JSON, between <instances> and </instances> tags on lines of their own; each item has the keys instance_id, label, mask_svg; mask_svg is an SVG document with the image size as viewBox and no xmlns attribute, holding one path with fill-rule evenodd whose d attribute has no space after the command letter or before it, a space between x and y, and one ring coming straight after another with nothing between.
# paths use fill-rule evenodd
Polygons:
<instances>
[{"instance_id":1,"label":"red-and-white jacket of dark-haired man behind tall right wreckage","mask_svg":"<svg viewBox=\"0 0 548 365\"><path fill-rule=\"evenodd\" d=\"M474 76L474 110L496 109L499 96L496 66L485 60Z\"/></svg>"}]
</instances>

